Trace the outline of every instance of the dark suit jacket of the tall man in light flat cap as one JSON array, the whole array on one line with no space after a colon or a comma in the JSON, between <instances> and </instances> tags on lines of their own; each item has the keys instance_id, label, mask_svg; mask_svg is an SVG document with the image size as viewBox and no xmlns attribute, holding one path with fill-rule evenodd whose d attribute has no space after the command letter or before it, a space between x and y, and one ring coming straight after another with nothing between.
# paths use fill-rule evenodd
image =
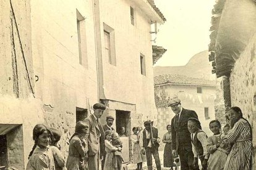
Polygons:
<instances>
[{"instance_id":1,"label":"dark suit jacket of the tall man in light flat cap","mask_svg":"<svg viewBox=\"0 0 256 170\"><path fill-rule=\"evenodd\" d=\"M177 150L179 154L179 147L183 146L187 152L192 152L192 144L190 140L190 132L187 129L187 119L197 118L197 113L194 110L187 110L182 108L179 121L176 121L176 116L171 119L171 139L173 150ZM200 126L200 129L201 126Z\"/></svg>"}]
</instances>

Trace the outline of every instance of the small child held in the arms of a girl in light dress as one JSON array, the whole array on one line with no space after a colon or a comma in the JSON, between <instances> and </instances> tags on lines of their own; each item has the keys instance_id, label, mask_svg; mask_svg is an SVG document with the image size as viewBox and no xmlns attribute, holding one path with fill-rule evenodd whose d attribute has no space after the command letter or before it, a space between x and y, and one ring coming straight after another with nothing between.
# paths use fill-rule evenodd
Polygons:
<instances>
[{"instance_id":1,"label":"small child held in the arms of a girl in light dress","mask_svg":"<svg viewBox=\"0 0 256 170\"><path fill-rule=\"evenodd\" d=\"M120 140L117 132L113 132L112 145L117 148L118 147L122 148L122 141ZM112 163L113 163L114 168L121 170L121 168L122 168L122 153L121 153L121 151L116 150L114 152L114 155L112 158Z\"/></svg>"}]
</instances>

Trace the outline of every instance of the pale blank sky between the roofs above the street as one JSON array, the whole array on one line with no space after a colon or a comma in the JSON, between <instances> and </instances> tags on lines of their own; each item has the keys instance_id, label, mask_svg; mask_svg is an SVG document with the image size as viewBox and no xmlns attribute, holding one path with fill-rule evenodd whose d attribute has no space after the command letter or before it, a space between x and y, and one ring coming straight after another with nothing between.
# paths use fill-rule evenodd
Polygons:
<instances>
[{"instance_id":1,"label":"pale blank sky between the roofs above the street","mask_svg":"<svg viewBox=\"0 0 256 170\"><path fill-rule=\"evenodd\" d=\"M155 0L155 4L167 20L158 25L155 43L167 51L155 66L186 65L193 55L208 50L215 0Z\"/></svg>"}]
</instances>

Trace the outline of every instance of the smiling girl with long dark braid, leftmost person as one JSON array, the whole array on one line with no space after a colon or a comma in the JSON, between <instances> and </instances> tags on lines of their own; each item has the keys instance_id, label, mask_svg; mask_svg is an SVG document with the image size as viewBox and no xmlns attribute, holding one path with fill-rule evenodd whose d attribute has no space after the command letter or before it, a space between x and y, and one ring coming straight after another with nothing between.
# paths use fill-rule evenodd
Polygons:
<instances>
[{"instance_id":1,"label":"smiling girl with long dark braid, leftmost person","mask_svg":"<svg viewBox=\"0 0 256 170\"><path fill-rule=\"evenodd\" d=\"M49 149L50 140L53 136L48 127L43 124L36 124L33 129L33 140L35 145L28 155L28 164L26 170L55 170L53 153Z\"/></svg>"}]
</instances>

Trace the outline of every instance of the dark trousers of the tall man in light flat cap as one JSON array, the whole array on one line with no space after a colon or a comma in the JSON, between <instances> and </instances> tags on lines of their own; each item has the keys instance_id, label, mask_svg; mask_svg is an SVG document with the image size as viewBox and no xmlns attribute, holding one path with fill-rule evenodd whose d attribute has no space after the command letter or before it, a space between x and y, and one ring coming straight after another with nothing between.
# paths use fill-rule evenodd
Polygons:
<instances>
[{"instance_id":1,"label":"dark trousers of the tall man in light flat cap","mask_svg":"<svg viewBox=\"0 0 256 170\"><path fill-rule=\"evenodd\" d=\"M199 170L199 168L193 168L194 153L187 151L182 145L178 148L179 160L181 161L181 170Z\"/></svg>"}]
</instances>

